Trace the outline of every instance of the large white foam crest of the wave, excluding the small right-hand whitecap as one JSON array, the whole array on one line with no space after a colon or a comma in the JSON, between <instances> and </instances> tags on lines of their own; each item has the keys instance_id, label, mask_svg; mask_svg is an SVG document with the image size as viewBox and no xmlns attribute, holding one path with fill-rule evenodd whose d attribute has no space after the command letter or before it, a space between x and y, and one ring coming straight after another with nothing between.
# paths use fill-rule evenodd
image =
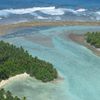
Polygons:
<instances>
[{"instance_id":1,"label":"large white foam crest of the wave, excluding the small right-hand whitecap","mask_svg":"<svg viewBox=\"0 0 100 100\"><path fill-rule=\"evenodd\" d=\"M63 15L64 11L60 8L55 7L33 7L33 8L25 8L25 9L4 9L0 10L0 15L7 15L7 14L31 14L36 11L40 11L45 14L49 15Z\"/></svg>"}]
</instances>

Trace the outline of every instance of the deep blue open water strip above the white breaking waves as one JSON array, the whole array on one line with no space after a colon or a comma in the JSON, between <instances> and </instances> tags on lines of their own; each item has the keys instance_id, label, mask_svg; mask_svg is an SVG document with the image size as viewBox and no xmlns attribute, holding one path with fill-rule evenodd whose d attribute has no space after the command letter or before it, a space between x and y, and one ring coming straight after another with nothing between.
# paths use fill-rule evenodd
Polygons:
<instances>
[{"instance_id":1,"label":"deep blue open water strip above the white breaking waves","mask_svg":"<svg viewBox=\"0 0 100 100\"><path fill-rule=\"evenodd\" d=\"M33 6L100 8L100 0L0 0L0 9Z\"/></svg>"}]
</instances>

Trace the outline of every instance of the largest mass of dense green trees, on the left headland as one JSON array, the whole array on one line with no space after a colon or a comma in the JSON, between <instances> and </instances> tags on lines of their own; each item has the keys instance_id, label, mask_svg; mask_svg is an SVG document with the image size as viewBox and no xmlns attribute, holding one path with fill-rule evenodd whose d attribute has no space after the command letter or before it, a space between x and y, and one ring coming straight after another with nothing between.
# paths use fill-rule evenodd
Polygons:
<instances>
[{"instance_id":1,"label":"largest mass of dense green trees, on the left headland","mask_svg":"<svg viewBox=\"0 0 100 100\"><path fill-rule=\"evenodd\" d=\"M0 80L24 72L43 82L57 78L57 71L52 64L33 58L22 47L0 41Z\"/></svg>"}]
</instances>

